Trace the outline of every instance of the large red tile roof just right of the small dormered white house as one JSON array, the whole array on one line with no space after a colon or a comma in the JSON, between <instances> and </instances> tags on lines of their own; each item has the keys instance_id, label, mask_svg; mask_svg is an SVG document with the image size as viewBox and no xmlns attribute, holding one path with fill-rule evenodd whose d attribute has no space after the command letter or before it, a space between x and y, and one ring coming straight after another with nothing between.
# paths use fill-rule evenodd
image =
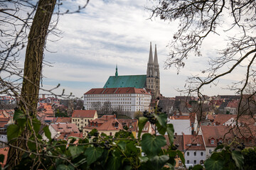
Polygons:
<instances>
[{"instance_id":1,"label":"large red tile roof just right of the small dormered white house","mask_svg":"<svg viewBox=\"0 0 256 170\"><path fill-rule=\"evenodd\" d=\"M201 125L201 129L206 147L217 147L217 143L220 138L223 140L223 142L228 143L228 140L233 139L234 137L233 131L230 130L231 128L228 126ZM214 144L210 144L210 140L214 140Z\"/></svg>"}]
</instances>

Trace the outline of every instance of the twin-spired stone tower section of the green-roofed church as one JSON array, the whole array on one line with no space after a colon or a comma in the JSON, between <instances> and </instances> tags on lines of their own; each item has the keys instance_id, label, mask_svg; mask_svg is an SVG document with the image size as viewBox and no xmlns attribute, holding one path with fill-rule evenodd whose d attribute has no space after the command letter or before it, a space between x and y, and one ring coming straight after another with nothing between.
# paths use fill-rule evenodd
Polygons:
<instances>
[{"instance_id":1,"label":"twin-spired stone tower section of the green-roofed church","mask_svg":"<svg viewBox=\"0 0 256 170\"><path fill-rule=\"evenodd\" d=\"M150 42L149 48L149 62L147 64L146 70L146 87L152 93L152 98L157 98L160 94L160 72L159 72L159 63L157 59L157 51L155 45L154 61L153 61L153 52Z\"/></svg>"}]
</instances>

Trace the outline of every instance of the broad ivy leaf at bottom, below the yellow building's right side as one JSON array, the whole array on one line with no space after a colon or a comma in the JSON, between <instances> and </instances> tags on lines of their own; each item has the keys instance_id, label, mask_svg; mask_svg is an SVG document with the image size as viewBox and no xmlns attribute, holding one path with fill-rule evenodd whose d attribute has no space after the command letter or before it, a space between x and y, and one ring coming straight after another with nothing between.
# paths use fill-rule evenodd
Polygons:
<instances>
[{"instance_id":1,"label":"broad ivy leaf at bottom, below the yellow building's right side","mask_svg":"<svg viewBox=\"0 0 256 170\"><path fill-rule=\"evenodd\" d=\"M90 165L95 162L102 155L103 149L100 147L87 147L85 156L87 157L87 164Z\"/></svg>"}]
</instances>

